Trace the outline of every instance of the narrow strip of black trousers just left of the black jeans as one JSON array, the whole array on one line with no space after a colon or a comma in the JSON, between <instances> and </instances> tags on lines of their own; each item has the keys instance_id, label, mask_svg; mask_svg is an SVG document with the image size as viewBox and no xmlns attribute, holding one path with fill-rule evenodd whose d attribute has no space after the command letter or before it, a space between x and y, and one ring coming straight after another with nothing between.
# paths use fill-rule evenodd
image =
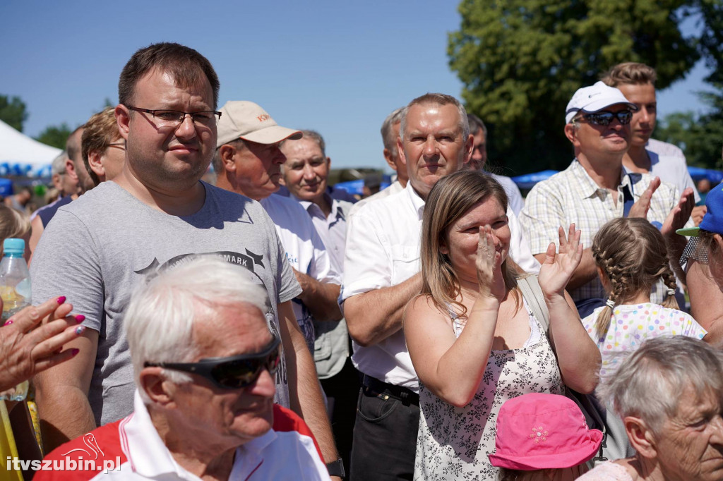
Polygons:
<instances>
[{"instance_id":1,"label":"narrow strip of black trousers just left of the black jeans","mask_svg":"<svg viewBox=\"0 0 723 481\"><path fill-rule=\"evenodd\" d=\"M351 358L346 358L346 363L341 371L328 379L322 379L321 386L326 394L336 450L344 462L344 469L348 472L351 459L351 439L356 419L356 399L359 386L361 386L359 371L354 368Z\"/></svg>"}]
</instances>

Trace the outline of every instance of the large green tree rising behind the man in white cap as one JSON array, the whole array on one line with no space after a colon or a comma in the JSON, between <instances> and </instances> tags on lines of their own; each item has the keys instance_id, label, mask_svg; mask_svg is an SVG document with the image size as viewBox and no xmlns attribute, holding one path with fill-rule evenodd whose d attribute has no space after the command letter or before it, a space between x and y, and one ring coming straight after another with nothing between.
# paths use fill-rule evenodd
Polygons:
<instances>
[{"instance_id":1,"label":"large green tree rising behind the man in white cap","mask_svg":"<svg viewBox=\"0 0 723 481\"><path fill-rule=\"evenodd\" d=\"M696 0L698 3L719 0ZM654 66L658 88L701 55L679 25L683 0L462 0L449 35L450 67L467 108L489 128L492 160L513 173L565 168L565 105L579 87L623 61ZM690 5L688 11L681 7Z\"/></svg>"}]
</instances>

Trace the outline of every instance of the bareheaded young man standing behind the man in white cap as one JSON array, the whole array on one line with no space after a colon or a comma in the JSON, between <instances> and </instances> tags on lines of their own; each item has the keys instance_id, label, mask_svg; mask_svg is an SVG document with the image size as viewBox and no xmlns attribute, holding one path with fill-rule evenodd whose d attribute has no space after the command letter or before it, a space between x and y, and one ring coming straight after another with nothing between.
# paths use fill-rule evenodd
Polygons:
<instances>
[{"instance_id":1,"label":"bareheaded young man standing behind the man in white cap","mask_svg":"<svg viewBox=\"0 0 723 481\"><path fill-rule=\"evenodd\" d=\"M623 157L623 167L628 172L657 175L661 181L676 186L679 193L688 187L693 188L697 203L701 196L690 177L683 151L673 144L650 138L655 130L657 116L656 79L655 69L636 62L617 64L602 78L605 84L616 87L638 107L630 121L630 149ZM705 213L705 206L693 208L696 225L703 220Z\"/></svg>"}]
</instances>

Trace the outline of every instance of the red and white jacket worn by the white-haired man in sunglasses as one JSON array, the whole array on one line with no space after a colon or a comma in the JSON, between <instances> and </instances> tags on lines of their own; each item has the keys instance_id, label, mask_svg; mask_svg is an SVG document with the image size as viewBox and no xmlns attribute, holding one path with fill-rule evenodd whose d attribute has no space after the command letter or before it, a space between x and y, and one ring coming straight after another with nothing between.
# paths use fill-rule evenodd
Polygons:
<instances>
[{"instance_id":1,"label":"red and white jacket worn by the white-haired man in sunglasses","mask_svg":"<svg viewBox=\"0 0 723 481\"><path fill-rule=\"evenodd\" d=\"M135 394L134 412L52 451L35 481L199 480L176 463ZM236 449L229 480L329 480L311 430L291 410L273 407L273 428Z\"/></svg>"}]
</instances>

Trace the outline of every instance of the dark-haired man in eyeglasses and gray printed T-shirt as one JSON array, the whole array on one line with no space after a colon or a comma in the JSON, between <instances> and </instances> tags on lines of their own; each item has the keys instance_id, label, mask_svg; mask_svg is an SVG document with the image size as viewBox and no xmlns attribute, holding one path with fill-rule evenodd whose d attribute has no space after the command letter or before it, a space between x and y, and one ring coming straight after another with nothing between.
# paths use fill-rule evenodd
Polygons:
<instances>
[{"instance_id":1,"label":"dark-haired man in eyeglasses and gray printed T-shirt","mask_svg":"<svg viewBox=\"0 0 723 481\"><path fill-rule=\"evenodd\" d=\"M273 223L258 204L200 181L215 148L219 86L213 66L192 48L158 43L134 53L114 110L126 147L121 172L59 209L38 243L33 293L66 294L88 328L73 346L77 362L36 378L50 449L132 412L121 329L131 290L197 254L221 256L264 285L268 328L286 347L275 400L303 413L320 438L331 431L291 308L301 289ZM322 449L335 455L333 441Z\"/></svg>"}]
</instances>

